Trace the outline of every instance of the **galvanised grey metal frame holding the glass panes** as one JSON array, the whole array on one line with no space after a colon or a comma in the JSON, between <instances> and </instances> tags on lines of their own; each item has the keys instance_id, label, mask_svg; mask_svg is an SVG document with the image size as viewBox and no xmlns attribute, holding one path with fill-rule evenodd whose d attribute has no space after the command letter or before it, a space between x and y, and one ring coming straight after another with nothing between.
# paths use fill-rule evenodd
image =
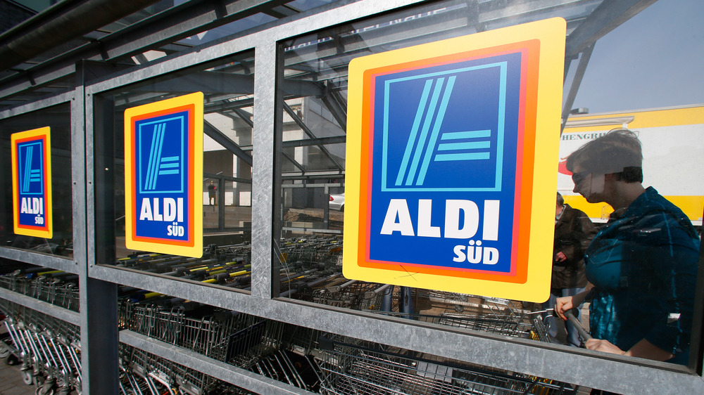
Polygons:
<instances>
[{"instance_id":1,"label":"galvanised grey metal frame holding the glass panes","mask_svg":"<svg viewBox=\"0 0 704 395\"><path fill-rule=\"evenodd\" d=\"M646 6L652 1L631 1ZM80 85L75 93L65 93L54 98L29 103L12 110L0 112L0 117L11 117L48 107L58 103L72 102L72 139L73 147L85 146L82 153L74 153L73 157L73 197L74 197L74 264L64 264L64 259L46 257L43 254L24 252L0 247L0 257L27 261L42 266L59 268L61 270L77 271L81 278L80 323L82 333L87 334L89 326L94 325L87 307L89 297L93 292L103 300L110 300L111 292L116 284L140 287L145 290L162 292L175 297L203 302L249 313L272 320L284 321L339 335L356 337L373 342L389 344L414 351L425 352L460 361L478 363L506 370L549 377L553 380L570 382L586 387L639 394L661 394L670 391L678 393L700 393L704 391L704 380L688 369L669 363L636 360L623 356L604 356L604 354L587 350L567 349L566 347L533 342L526 339L506 338L482 332L472 332L462 329L440 328L432 324L419 324L401 318L379 317L372 313L353 312L330 306L320 306L298 302L292 299L275 298L277 290L272 289L275 281L273 250L275 248L273 219L276 216L275 204L278 187L277 173L272 163L277 158L276 148L281 144L276 141L276 130L280 110L277 101L279 96L277 81L280 70L277 69L279 59L279 41L296 35L314 32L358 18L391 11L404 6L421 4L421 0L360 0L351 4L337 6L329 10L310 15L308 18L298 18L290 22L279 22L268 30L243 34L231 41L215 44L201 51L186 53L177 58L148 65L139 70L118 75L95 84ZM176 280L164 276L151 276L145 273L127 269L100 266L96 245L88 240L96 237L96 162L94 155L93 131L94 96L109 89L131 84L156 75L180 70L198 63L215 60L223 56L241 51L255 51L256 75L254 81L254 126L253 126L253 180L252 180L252 291L251 294L233 291L229 288L204 286L187 280ZM277 113L279 112L279 113ZM280 124L280 122L279 122ZM86 131L84 134L83 131ZM76 155L77 154L77 155ZM87 174L87 176L86 176ZM91 283L91 284L89 284ZM21 301L30 306L41 306L37 302L27 300L22 295L6 290L0 290L0 298ZM31 299L31 298L30 298ZM52 315L61 315L55 309ZM75 317L73 317L75 318ZM230 366L224 367L203 359L201 356L185 354L179 356L182 350L174 350L171 346L161 344L153 339L141 337L131 332L122 332L120 339L158 356L178 359L185 363L208 370L209 374L218 375L222 380L237 382L237 385L249 389L275 393L301 393L293 388L272 382L265 377L258 377ZM118 336L113 339L111 347L116 347ZM102 337L105 342L105 337ZM98 340L89 337L84 339L83 347L88 350L97 349ZM108 353L109 354L109 353ZM90 356L89 356L90 355ZM84 352L84 358L109 358L96 353ZM549 363L546 363L549 361ZM88 367L97 361L84 361ZM97 365L99 366L99 365ZM86 369L84 382L97 382L101 373L99 369ZM644 385L644 383L647 383ZM91 387L99 391L99 387ZM103 391L104 389L104 391ZM100 388L101 393L111 393L113 389ZM305 392L303 392L305 393Z\"/></svg>"}]
</instances>

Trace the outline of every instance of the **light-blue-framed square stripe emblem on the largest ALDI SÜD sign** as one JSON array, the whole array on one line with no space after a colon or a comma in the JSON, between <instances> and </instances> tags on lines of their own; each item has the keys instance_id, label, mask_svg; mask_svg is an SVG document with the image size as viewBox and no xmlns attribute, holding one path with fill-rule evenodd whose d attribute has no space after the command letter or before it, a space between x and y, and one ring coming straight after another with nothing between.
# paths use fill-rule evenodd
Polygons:
<instances>
[{"instance_id":1,"label":"light-blue-framed square stripe emblem on the largest ALDI S\u00dcD sign","mask_svg":"<svg viewBox=\"0 0 704 395\"><path fill-rule=\"evenodd\" d=\"M501 190L505 86L505 62L386 79L382 190Z\"/></svg>"}]
</instances>

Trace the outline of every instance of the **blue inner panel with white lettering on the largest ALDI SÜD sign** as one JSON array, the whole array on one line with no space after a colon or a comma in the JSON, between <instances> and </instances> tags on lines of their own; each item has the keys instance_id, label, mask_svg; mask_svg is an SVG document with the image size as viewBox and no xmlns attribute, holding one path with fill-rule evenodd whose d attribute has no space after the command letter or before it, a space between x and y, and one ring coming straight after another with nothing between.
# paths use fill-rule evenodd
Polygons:
<instances>
[{"instance_id":1,"label":"blue inner panel with white lettering on the largest ALDI S\u00dcD sign","mask_svg":"<svg viewBox=\"0 0 704 395\"><path fill-rule=\"evenodd\" d=\"M520 52L375 78L369 259L510 273L520 83Z\"/></svg>"}]
</instances>

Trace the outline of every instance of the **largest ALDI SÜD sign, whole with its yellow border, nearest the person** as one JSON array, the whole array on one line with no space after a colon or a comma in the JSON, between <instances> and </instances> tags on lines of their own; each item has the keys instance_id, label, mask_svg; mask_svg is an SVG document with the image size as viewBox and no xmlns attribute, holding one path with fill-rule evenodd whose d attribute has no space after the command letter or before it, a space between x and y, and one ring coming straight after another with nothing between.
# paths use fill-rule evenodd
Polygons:
<instances>
[{"instance_id":1,"label":"largest ALDI S\u00dcD sign, whole with its yellow border, nearest the person","mask_svg":"<svg viewBox=\"0 0 704 395\"><path fill-rule=\"evenodd\" d=\"M350 63L346 277L547 299L564 51L555 18Z\"/></svg>"}]
</instances>

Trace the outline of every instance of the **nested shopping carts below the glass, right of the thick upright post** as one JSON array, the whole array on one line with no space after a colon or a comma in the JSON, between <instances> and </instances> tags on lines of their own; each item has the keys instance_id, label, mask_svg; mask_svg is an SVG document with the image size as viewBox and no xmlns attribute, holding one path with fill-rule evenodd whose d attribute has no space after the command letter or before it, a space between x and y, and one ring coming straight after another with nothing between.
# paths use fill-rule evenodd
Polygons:
<instances>
[{"instance_id":1,"label":"nested shopping carts below the glass, right of the thick upright post","mask_svg":"<svg viewBox=\"0 0 704 395\"><path fill-rule=\"evenodd\" d=\"M2 277L0 276L0 279ZM251 373L315 394L574 394L570 384L487 368L386 344L185 302L161 295L136 302L130 290L120 299L120 329L184 347ZM145 325L145 323L149 323ZM125 366L149 365L152 373L181 388L201 388L203 373L122 350ZM128 363L129 362L129 363ZM127 370L129 372L129 370ZM189 374L190 373L190 374ZM217 394L244 394L218 380ZM588 391L588 390L587 390Z\"/></svg>"}]
</instances>

